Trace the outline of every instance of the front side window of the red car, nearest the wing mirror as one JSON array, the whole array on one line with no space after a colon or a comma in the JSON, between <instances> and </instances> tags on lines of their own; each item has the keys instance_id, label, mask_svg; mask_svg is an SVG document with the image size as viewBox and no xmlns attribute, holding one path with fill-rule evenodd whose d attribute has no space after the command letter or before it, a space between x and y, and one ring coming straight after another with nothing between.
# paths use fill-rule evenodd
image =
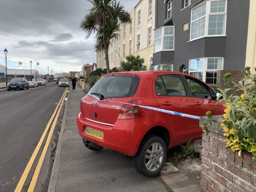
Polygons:
<instances>
[{"instance_id":1,"label":"front side window of the red car, nearest the wing mirror","mask_svg":"<svg viewBox=\"0 0 256 192\"><path fill-rule=\"evenodd\" d=\"M206 88L205 85L191 77L186 77L186 79L188 81L193 97L211 99L210 91Z\"/></svg>"}]
</instances>

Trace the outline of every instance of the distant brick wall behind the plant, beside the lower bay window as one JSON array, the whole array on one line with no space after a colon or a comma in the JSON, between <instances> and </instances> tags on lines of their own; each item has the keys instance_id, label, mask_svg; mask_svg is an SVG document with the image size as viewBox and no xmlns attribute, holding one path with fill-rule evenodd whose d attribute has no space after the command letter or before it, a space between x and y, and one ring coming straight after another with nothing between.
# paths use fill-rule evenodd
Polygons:
<instances>
[{"instance_id":1,"label":"distant brick wall behind the plant, beside the lower bay window","mask_svg":"<svg viewBox=\"0 0 256 192\"><path fill-rule=\"evenodd\" d=\"M233 94L235 90L238 88L234 88L233 83L228 83L227 85L224 85L224 75L226 73L231 73L232 74L232 80L238 84L238 82L244 77L243 71L234 71L234 70L217 70L217 82L216 84L219 85L222 89L228 89L232 88L233 90L228 90L227 95ZM235 92L233 95L238 95L240 96L243 93L243 91L239 90Z\"/></svg>"}]
</instances>

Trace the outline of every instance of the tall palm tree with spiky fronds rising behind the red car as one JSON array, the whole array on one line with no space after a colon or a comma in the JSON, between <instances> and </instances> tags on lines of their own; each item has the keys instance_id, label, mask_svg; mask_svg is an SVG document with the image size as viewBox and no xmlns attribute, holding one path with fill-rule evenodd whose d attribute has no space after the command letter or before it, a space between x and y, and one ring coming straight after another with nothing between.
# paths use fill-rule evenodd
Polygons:
<instances>
[{"instance_id":1,"label":"tall palm tree with spiky fronds rising behind the red car","mask_svg":"<svg viewBox=\"0 0 256 192\"><path fill-rule=\"evenodd\" d=\"M82 19L80 28L87 33L86 39L92 33L95 36L95 50L105 50L107 73L109 68L109 45L113 39L119 37L118 30L121 23L131 23L131 15L124 10L124 6L116 0L89 0L92 8Z\"/></svg>"}]
</instances>

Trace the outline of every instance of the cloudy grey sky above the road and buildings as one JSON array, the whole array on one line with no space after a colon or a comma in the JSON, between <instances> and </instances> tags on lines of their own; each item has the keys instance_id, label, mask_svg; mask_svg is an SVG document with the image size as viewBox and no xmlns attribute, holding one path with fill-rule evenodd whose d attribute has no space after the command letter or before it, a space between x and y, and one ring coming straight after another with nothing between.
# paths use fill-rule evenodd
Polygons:
<instances>
[{"instance_id":1,"label":"cloudy grey sky above the road and buildings","mask_svg":"<svg viewBox=\"0 0 256 192\"><path fill-rule=\"evenodd\" d=\"M118 0L117 0L118 1ZM131 11L139 0L121 0ZM81 71L96 63L93 35L86 39L79 28L91 8L87 0L8 0L0 6L0 65L37 69L47 74ZM22 65L18 65L18 61ZM36 65L39 63L39 66Z\"/></svg>"}]
</instances>

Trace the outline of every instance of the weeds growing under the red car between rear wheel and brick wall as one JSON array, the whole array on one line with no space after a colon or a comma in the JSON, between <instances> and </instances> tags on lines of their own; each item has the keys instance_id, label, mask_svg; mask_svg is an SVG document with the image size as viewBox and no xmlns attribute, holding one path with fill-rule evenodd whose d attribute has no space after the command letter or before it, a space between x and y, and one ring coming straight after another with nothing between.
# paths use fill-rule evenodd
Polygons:
<instances>
[{"instance_id":1,"label":"weeds growing under the red car between rear wheel and brick wall","mask_svg":"<svg viewBox=\"0 0 256 192\"><path fill-rule=\"evenodd\" d=\"M191 140L186 143L186 147L183 151L181 151L180 147L173 147L169 150L169 156L167 157L167 161L178 164L181 161L184 161L186 157L190 157L191 159L199 158L199 153L196 153L194 149L191 149Z\"/></svg>"}]
</instances>

